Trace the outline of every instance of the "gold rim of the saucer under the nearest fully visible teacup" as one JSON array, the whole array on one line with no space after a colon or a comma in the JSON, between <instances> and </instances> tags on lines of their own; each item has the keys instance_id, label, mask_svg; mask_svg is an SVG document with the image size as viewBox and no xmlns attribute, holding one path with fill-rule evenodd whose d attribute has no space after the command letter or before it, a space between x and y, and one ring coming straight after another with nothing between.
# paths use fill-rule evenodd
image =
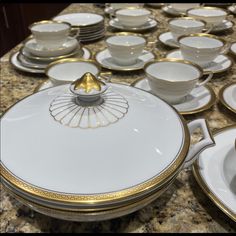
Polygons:
<instances>
[{"instance_id":1,"label":"gold rim of the saucer under the nearest fully visible teacup","mask_svg":"<svg viewBox=\"0 0 236 236\"><path fill-rule=\"evenodd\" d=\"M135 80L134 82L132 82L132 83L130 84L130 86L135 87L136 84L137 84L139 81L143 80L143 79L144 79L144 78L140 78L140 79ZM193 114L196 114L196 113L200 113L200 112L203 112L203 111L206 111L206 110L210 109L210 108L215 104L215 102L216 102L216 95L215 95L213 89L212 89L209 85L204 85L204 87L205 87L205 88L209 91L209 93L210 93L211 98L210 98L209 102L208 102L207 104L205 104L204 106L199 107L199 108L197 108L197 109L195 109L195 110L191 110L191 111L178 111L181 115L193 115ZM143 90L143 89L142 89L142 90ZM146 91L146 90L144 90L144 91ZM172 105L172 106L173 106L173 105Z\"/></svg>"}]
</instances>

